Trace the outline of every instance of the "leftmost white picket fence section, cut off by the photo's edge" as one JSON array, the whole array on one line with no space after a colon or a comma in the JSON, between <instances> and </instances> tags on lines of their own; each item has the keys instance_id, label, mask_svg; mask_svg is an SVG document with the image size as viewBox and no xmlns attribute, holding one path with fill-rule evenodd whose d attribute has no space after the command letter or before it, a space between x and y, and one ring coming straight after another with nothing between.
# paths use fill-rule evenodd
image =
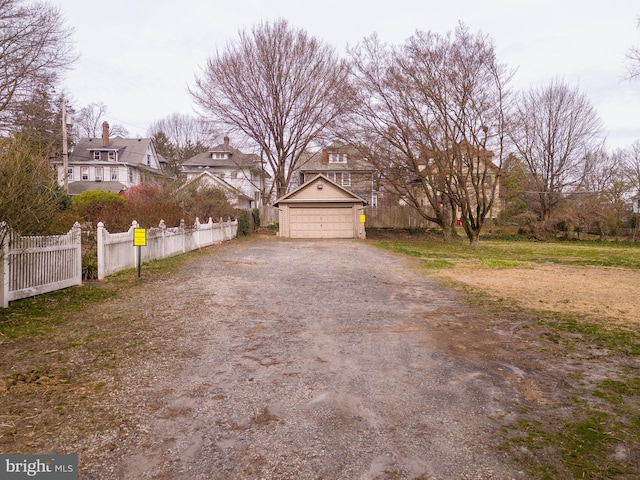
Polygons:
<instances>
[{"instance_id":1,"label":"leftmost white picket fence section, cut off by the photo's edge","mask_svg":"<svg viewBox=\"0 0 640 480\"><path fill-rule=\"evenodd\" d=\"M0 230L5 235L0 252L2 308L13 300L82 284L79 223L65 235L23 237L2 224Z\"/></svg>"}]
</instances>

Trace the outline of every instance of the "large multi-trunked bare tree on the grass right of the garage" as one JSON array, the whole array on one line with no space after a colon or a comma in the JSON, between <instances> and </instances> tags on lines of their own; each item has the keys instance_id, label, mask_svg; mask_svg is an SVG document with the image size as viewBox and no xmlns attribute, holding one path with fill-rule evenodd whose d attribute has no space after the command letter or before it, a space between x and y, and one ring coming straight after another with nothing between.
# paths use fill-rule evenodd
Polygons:
<instances>
[{"instance_id":1,"label":"large multi-trunked bare tree on the grass right of the garage","mask_svg":"<svg viewBox=\"0 0 640 480\"><path fill-rule=\"evenodd\" d=\"M386 188L447 237L459 212L476 246L505 155L510 75L493 43L459 25L445 36L417 32L401 48L372 37L352 58L361 92L354 123L377 146L370 158Z\"/></svg>"}]
</instances>

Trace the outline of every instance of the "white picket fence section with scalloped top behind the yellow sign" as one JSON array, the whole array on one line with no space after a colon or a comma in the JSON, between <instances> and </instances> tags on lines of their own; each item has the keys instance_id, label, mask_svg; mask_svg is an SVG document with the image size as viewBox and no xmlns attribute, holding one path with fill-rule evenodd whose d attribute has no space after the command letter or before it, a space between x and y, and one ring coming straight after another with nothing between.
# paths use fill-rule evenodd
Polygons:
<instances>
[{"instance_id":1,"label":"white picket fence section with scalloped top behind the yellow sign","mask_svg":"<svg viewBox=\"0 0 640 480\"><path fill-rule=\"evenodd\" d=\"M183 222L171 228L161 221L159 227L147 229L147 245L140 248L133 245L134 228L139 228L136 221L126 232L109 233L102 222L98 223L98 280L135 268L138 250L144 263L231 240L238 234L238 221L220 219L219 223L213 223L209 218L207 223L200 223L196 218L193 227L186 227Z\"/></svg>"}]
</instances>

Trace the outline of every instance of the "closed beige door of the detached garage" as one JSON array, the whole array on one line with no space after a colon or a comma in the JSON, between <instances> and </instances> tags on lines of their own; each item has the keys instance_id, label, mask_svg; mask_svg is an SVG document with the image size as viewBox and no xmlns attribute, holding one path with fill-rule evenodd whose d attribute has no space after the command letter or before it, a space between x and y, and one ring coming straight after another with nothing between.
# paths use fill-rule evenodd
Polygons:
<instances>
[{"instance_id":1,"label":"closed beige door of the detached garage","mask_svg":"<svg viewBox=\"0 0 640 480\"><path fill-rule=\"evenodd\" d=\"M291 238L353 238L351 207L289 208Z\"/></svg>"}]
</instances>

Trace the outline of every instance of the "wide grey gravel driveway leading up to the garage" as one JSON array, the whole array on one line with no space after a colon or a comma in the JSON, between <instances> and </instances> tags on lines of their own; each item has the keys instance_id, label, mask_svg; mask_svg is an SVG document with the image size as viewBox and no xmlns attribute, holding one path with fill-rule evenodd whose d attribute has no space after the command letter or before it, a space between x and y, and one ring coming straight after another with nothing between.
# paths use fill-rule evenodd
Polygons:
<instances>
[{"instance_id":1,"label":"wide grey gravel driveway leading up to the garage","mask_svg":"<svg viewBox=\"0 0 640 480\"><path fill-rule=\"evenodd\" d=\"M522 478L494 445L516 390L449 348L473 312L410 260L238 241L126 301L155 353L120 378L135 418L91 440L111 451L90 478Z\"/></svg>"}]
</instances>

